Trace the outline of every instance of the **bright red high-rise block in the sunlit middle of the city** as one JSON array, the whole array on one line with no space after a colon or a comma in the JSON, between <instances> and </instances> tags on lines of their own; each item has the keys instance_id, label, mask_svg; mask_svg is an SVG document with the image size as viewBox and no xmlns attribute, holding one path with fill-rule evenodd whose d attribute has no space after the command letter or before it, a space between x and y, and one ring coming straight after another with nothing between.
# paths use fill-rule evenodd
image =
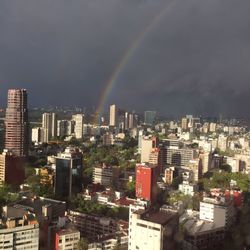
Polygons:
<instances>
[{"instance_id":1,"label":"bright red high-rise block in the sunlit middle of the city","mask_svg":"<svg viewBox=\"0 0 250 250\"><path fill-rule=\"evenodd\" d=\"M157 165L136 165L136 197L154 203L157 197Z\"/></svg>"}]
</instances>

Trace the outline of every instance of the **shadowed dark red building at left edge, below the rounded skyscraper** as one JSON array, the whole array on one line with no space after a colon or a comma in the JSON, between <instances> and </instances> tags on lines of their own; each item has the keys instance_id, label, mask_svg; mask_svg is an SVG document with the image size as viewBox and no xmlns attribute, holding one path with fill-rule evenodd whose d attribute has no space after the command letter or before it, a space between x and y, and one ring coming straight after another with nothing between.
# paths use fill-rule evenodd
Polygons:
<instances>
[{"instance_id":1,"label":"shadowed dark red building at left edge, below the rounded skyscraper","mask_svg":"<svg viewBox=\"0 0 250 250\"><path fill-rule=\"evenodd\" d=\"M24 157L4 150L0 154L0 185L3 183L18 186L24 182Z\"/></svg>"}]
</instances>

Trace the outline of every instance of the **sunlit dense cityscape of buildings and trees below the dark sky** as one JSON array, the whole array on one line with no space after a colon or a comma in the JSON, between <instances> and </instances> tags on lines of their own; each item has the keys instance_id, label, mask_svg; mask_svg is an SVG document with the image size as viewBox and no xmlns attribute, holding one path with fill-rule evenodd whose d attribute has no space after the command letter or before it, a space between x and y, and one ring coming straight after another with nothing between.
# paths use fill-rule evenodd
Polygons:
<instances>
[{"instance_id":1,"label":"sunlit dense cityscape of buildings and trees below the dark sky","mask_svg":"<svg viewBox=\"0 0 250 250\"><path fill-rule=\"evenodd\" d=\"M2 109L1 249L244 249L247 121ZM35 113L34 113L35 112Z\"/></svg>"}]
</instances>

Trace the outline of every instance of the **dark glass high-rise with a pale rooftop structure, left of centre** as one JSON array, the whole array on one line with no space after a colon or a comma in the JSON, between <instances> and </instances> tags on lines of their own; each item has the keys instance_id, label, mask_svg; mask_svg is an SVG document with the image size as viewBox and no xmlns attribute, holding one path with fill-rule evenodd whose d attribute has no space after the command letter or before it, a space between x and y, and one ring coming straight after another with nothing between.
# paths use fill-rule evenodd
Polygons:
<instances>
[{"instance_id":1,"label":"dark glass high-rise with a pale rooftop structure, left of centre","mask_svg":"<svg viewBox=\"0 0 250 250\"><path fill-rule=\"evenodd\" d=\"M77 148L66 148L56 157L54 192L58 197L71 197L82 189L82 153Z\"/></svg>"}]
</instances>

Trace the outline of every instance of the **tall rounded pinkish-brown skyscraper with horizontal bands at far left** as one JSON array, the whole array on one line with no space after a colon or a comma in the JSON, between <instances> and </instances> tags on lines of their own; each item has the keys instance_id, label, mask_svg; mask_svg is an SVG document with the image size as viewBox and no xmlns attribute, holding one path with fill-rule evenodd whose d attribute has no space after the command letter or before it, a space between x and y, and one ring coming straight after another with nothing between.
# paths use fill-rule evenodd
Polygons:
<instances>
[{"instance_id":1,"label":"tall rounded pinkish-brown skyscraper with horizontal bands at far left","mask_svg":"<svg viewBox=\"0 0 250 250\"><path fill-rule=\"evenodd\" d=\"M26 89L10 89L8 91L5 148L17 156L28 155L29 126Z\"/></svg>"}]
</instances>

